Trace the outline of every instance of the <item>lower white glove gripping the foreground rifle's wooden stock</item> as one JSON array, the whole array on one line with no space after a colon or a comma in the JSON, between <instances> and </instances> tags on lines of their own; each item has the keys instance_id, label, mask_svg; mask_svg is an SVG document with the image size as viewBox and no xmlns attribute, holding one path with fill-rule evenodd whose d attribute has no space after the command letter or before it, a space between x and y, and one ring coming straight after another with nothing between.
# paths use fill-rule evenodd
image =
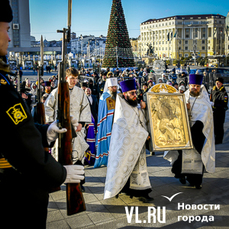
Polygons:
<instances>
[{"instance_id":1,"label":"lower white glove gripping the foreground rifle's wooden stock","mask_svg":"<svg viewBox=\"0 0 229 229\"><path fill-rule=\"evenodd\" d=\"M80 183L84 179L84 167L82 165L64 165L67 177L64 183Z\"/></svg>"}]
</instances>

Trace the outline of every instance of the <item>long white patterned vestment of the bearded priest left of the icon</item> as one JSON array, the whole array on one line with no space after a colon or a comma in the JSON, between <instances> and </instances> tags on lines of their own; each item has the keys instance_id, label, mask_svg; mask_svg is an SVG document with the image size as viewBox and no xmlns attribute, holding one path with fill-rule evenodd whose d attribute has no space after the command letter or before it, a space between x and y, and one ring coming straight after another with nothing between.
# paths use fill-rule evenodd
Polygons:
<instances>
[{"instance_id":1,"label":"long white patterned vestment of the bearded priest left of the icon","mask_svg":"<svg viewBox=\"0 0 229 229\"><path fill-rule=\"evenodd\" d=\"M142 110L117 96L104 199L116 196L129 177L131 189L151 188L144 147L147 136Z\"/></svg>"}]
</instances>

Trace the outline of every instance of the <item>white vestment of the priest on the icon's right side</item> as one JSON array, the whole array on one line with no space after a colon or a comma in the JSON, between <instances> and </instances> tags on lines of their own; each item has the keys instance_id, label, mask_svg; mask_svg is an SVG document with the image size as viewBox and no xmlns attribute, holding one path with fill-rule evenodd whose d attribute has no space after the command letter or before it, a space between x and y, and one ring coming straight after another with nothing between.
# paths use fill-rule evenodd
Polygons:
<instances>
[{"instance_id":1,"label":"white vestment of the priest on the icon's right side","mask_svg":"<svg viewBox=\"0 0 229 229\"><path fill-rule=\"evenodd\" d=\"M205 142L203 149L201 151L201 160L205 166L205 169L209 173L215 171L215 139L214 139L214 125L213 125L213 112L211 107L211 102L205 87L201 86L201 93L198 97L190 96L190 91L185 92L186 102L190 102L191 107L191 126L195 124L196 121L201 121L204 125L203 134L205 136ZM194 104L194 105L193 105ZM183 150L183 154L188 157L191 154L197 154L195 149ZM178 157L177 151L166 151L164 158L169 160L171 163L176 161ZM198 159L197 159L198 163ZM185 163L182 163L184 165ZM190 173L196 173L196 169L199 167L193 166L193 171ZM183 168L182 168L183 169ZM189 168L190 169L190 168ZM186 170L186 168L184 168ZM188 168L187 168L188 170ZM198 173L198 172L197 172Z\"/></svg>"}]
</instances>

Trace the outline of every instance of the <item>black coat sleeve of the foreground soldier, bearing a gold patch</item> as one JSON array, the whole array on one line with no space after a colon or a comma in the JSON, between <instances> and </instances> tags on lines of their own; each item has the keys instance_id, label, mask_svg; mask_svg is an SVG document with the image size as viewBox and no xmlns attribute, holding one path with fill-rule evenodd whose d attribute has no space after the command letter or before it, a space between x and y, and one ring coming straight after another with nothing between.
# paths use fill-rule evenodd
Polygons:
<instances>
[{"instance_id":1,"label":"black coat sleeve of the foreground soldier, bearing a gold patch","mask_svg":"<svg viewBox=\"0 0 229 229\"><path fill-rule=\"evenodd\" d=\"M4 142L1 153L22 175L32 176L33 179L37 179L36 182L41 182L44 186L60 185L65 179L66 171L43 149L44 145L48 145L46 140L48 126L37 124L38 129L36 128L24 100L8 77L0 73L0 118L1 129L4 130L1 136L1 142Z\"/></svg>"}]
</instances>

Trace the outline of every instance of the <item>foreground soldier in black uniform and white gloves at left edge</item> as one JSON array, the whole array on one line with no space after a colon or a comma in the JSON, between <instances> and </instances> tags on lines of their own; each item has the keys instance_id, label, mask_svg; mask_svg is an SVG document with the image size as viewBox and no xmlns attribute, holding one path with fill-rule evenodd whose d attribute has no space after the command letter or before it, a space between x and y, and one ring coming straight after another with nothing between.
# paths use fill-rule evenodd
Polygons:
<instances>
[{"instance_id":1,"label":"foreground soldier in black uniform and white gloves at left edge","mask_svg":"<svg viewBox=\"0 0 229 229\"><path fill-rule=\"evenodd\" d=\"M11 21L12 10L9 1L2 0L0 8L1 228L41 229L46 227L48 190L66 181L79 183L83 177L78 174L83 174L83 167L63 167L44 151L43 147L53 145L58 133L64 133L66 129L60 130L56 123L50 126L35 125L28 107L10 82L8 77L10 69L4 59L8 43L11 41L8 36ZM72 168L76 170L72 172ZM71 179L72 175L76 175L76 179Z\"/></svg>"}]
</instances>

